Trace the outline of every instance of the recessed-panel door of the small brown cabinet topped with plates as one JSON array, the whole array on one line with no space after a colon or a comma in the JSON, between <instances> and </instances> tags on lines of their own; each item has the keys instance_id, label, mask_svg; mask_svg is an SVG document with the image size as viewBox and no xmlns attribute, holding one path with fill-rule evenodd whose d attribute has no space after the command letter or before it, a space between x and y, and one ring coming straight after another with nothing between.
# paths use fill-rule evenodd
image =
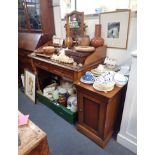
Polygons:
<instances>
[{"instance_id":1,"label":"recessed-panel door of the small brown cabinet topped with plates","mask_svg":"<svg viewBox=\"0 0 155 155\"><path fill-rule=\"evenodd\" d=\"M79 124L97 136L103 137L105 104L93 97L80 93L78 106Z\"/></svg>"}]
</instances>

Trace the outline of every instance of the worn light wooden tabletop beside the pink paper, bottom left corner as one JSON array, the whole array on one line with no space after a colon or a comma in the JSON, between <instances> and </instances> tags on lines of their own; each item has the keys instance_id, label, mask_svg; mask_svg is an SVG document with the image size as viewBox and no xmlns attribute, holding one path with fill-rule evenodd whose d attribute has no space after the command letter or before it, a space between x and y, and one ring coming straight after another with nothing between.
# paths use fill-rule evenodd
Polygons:
<instances>
[{"instance_id":1,"label":"worn light wooden tabletop beside the pink paper, bottom left corner","mask_svg":"<svg viewBox=\"0 0 155 155\"><path fill-rule=\"evenodd\" d=\"M19 112L18 115L22 115ZM18 127L21 144L18 146L18 154L25 155L31 152L45 137L46 133L29 120L27 125Z\"/></svg>"}]
</instances>

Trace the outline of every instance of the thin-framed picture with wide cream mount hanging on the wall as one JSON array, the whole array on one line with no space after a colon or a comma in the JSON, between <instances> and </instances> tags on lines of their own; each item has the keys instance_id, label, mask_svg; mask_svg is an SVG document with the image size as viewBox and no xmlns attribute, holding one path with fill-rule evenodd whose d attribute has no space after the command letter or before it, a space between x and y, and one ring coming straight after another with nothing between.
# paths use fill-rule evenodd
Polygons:
<instances>
[{"instance_id":1,"label":"thin-framed picture with wide cream mount hanging on the wall","mask_svg":"<svg viewBox=\"0 0 155 155\"><path fill-rule=\"evenodd\" d=\"M99 15L101 36L109 48L127 49L130 9L119 9Z\"/></svg>"}]
</instances>

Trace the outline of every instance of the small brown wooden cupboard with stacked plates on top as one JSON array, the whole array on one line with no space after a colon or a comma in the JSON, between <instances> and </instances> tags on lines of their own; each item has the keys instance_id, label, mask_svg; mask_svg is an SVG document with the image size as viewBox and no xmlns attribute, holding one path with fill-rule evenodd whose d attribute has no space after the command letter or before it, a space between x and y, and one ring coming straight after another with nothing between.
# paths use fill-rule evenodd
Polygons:
<instances>
[{"instance_id":1,"label":"small brown wooden cupboard with stacked plates on top","mask_svg":"<svg viewBox=\"0 0 155 155\"><path fill-rule=\"evenodd\" d=\"M123 88L108 92L96 91L92 85L76 83L78 99L77 129L101 147L114 133L121 110Z\"/></svg>"}]
</instances>

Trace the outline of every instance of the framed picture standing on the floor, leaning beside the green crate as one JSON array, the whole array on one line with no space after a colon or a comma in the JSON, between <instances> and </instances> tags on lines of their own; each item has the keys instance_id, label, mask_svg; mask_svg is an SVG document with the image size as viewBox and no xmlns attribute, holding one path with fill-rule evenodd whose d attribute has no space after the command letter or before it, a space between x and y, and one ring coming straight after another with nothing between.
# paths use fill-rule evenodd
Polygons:
<instances>
[{"instance_id":1,"label":"framed picture standing on the floor, leaning beside the green crate","mask_svg":"<svg viewBox=\"0 0 155 155\"><path fill-rule=\"evenodd\" d=\"M29 70L24 70L25 95L36 103L36 75Z\"/></svg>"}]
</instances>

